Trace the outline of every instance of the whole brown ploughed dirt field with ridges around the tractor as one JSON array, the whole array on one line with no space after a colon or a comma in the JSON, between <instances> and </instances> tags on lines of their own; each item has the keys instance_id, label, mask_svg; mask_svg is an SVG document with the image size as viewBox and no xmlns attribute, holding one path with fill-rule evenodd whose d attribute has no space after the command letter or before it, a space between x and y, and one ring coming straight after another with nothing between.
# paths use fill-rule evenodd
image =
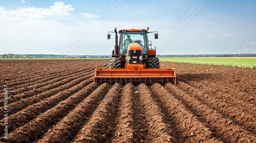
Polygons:
<instances>
[{"instance_id":1,"label":"whole brown ploughed dirt field with ridges around the tractor","mask_svg":"<svg viewBox=\"0 0 256 143\"><path fill-rule=\"evenodd\" d=\"M108 64L0 60L0 141L256 142L256 69L160 62L177 86L94 83Z\"/></svg>"}]
</instances>

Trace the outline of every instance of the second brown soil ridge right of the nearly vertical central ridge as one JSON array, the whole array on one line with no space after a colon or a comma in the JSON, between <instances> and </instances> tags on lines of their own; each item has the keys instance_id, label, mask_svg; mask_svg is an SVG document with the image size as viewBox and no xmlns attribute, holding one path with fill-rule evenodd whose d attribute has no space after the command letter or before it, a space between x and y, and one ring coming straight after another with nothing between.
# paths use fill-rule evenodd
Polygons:
<instances>
[{"instance_id":1,"label":"second brown soil ridge right of the nearly vertical central ridge","mask_svg":"<svg viewBox=\"0 0 256 143\"><path fill-rule=\"evenodd\" d=\"M210 128L191 114L182 102L174 98L162 85L155 83L151 88L177 125L182 138L180 142L221 142Z\"/></svg>"}]
</instances>

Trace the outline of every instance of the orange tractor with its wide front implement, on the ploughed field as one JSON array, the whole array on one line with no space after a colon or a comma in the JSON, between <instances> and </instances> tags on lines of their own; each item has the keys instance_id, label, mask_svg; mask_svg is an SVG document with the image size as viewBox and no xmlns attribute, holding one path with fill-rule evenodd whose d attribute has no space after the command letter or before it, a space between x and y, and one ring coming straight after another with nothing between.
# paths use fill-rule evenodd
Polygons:
<instances>
[{"instance_id":1,"label":"orange tractor with its wide front implement, on the ploughed field","mask_svg":"<svg viewBox=\"0 0 256 143\"><path fill-rule=\"evenodd\" d=\"M152 41L148 40L148 29L125 29L115 33L115 45L110 59L110 68L95 69L95 82L121 82L127 83L154 83L170 82L176 85L175 68L160 68L159 59L156 57L156 47L152 48ZM118 34L120 34L118 42ZM108 39L111 34L108 34ZM134 40L132 40L134 39Z\"/></svg>"}]
</instances>

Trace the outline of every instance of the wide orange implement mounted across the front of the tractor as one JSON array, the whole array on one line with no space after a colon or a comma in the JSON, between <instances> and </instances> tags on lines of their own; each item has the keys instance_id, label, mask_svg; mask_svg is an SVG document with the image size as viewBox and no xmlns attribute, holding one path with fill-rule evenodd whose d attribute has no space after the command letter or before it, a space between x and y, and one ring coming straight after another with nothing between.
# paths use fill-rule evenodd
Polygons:
<instances>
[{"instance_id":1,"label":"wide orange implement mounted across the front of the tractor","mask_svg":"<svg viewBox=\"0 0 256 143\"><path fill-rule=\"evenodd\" d=\"M95 82L170 82L176 85L175 69L169 68L144 68L141 70L119 69L95 69Z\"/></svg>"}]
</instances>

